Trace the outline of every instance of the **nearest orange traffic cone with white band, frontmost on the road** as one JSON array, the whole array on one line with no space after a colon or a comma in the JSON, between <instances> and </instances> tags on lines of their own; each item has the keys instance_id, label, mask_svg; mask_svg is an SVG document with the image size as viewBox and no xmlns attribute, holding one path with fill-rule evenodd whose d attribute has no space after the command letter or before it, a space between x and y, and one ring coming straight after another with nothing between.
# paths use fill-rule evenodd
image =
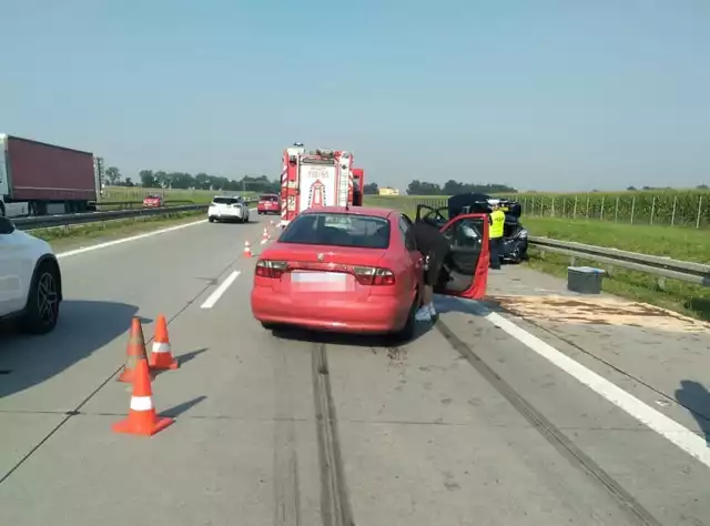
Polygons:
<instances>
[{"instance_id":1,"label":"nearest orange traffic cone with white band, frontmost on the road","mask_svg":"<svg viewBox=\"0 0 710 526\"><path fill-rule=\"evenodd\" d=\"M172 423L172 418L155 414L148 360L139 360L135 366L135 381L133 382L129 416L111 426L113 433L152 436Z\"/></svg>"}]
</instances>

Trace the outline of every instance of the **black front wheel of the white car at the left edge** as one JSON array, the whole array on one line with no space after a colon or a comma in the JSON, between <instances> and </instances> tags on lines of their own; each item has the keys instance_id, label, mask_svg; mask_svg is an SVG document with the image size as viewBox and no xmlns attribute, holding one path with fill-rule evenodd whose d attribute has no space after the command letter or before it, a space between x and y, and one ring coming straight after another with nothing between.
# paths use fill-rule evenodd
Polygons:
<instances>
[{"instance_id":1,"label":"black front wheel of the white car at the left edge","mask_svg":"<svg viewBox=\"0 0 710 526\"><path fill-rule=\"evenodd\" d=\"M47 334L57 326L60 303L60 275L55 265L42 263L32 277L20 328L30 334Z\"/></svg>"}]
</instances>

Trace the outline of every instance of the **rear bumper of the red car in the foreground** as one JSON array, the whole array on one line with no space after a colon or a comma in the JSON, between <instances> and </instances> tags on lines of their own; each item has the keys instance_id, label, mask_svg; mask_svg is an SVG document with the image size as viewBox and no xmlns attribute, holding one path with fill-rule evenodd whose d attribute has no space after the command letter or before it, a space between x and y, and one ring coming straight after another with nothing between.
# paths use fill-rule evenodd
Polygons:
<instances>
[{"instance_id":1,"label":"rear bumper of the red car in the foreground","mask_svg":"<svg viewBox=\"0 0 710 526\"><path fill-rule=\"evenodd\" d=\"M301 296L301 297L298 297ZM343 333L381 334L400 330L409 313L406 299L371 296L367 301L316 300L278 295L270 287L252 290L252 314L260 322Z\"/></svg>"}]
</instances>

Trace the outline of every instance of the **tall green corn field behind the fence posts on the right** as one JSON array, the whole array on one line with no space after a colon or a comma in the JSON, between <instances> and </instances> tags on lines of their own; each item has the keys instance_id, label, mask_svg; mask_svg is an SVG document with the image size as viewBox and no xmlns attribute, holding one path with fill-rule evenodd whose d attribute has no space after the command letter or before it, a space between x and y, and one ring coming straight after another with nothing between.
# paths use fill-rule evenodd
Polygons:
<instances>
[{"instance_id":1,"label":"tall green corn field behind the fence posts on the right","mask_svg":"<svg viewBox=\"0 0 710 526\"><path fill-rule=\"evenodd\" d=\"M497 198L519 202L523 205L524 216L710 229L710 192L701 190L579 194L528 193L497 195ZM448 198L399 199L406 200L408 206L415 208L417 204L445 206Z\"/></svg>"}]
</instances>

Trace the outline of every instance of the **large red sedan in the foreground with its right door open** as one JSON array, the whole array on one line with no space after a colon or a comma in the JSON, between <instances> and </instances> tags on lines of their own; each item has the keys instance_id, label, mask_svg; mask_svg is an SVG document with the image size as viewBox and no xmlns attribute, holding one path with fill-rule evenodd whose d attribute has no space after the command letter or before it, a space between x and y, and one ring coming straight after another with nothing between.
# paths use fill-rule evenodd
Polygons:
<instances>
[{"instance_id":1,"label":"large red sedan in the foreground with its right door open","mask_svg":"<svg viewBox=\"0 0 710 526\"><path fill-rule=\"evenodd\" d=\"M388 209L302 212L256 261L254 317L265 328L285 324L412 338L423 257L410 225L409 218ZM487 216L462 214L440 230L452 251L435 292L481 299L489 263Z\"/></svg>"}]
</instances>

